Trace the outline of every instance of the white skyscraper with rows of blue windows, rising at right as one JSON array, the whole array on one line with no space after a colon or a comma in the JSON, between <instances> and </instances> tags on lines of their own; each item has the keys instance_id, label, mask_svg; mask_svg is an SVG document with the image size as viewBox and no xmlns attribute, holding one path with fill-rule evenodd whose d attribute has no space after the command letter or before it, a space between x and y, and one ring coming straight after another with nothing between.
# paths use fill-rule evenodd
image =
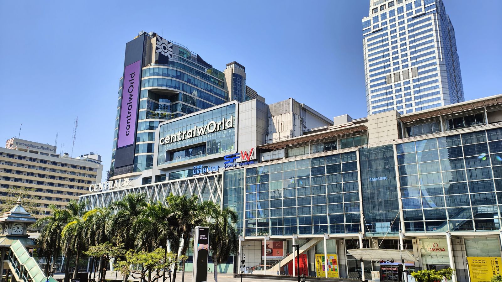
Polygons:
<instances>
[{"instance_id":1,"label":"white skyscraper with rows of blue windows, rising at right","mask_svg":"<svg viewBox=\"0 0 502 282\"><path fill-rule=\"evenodd\" d=\"M455 31L441 0L370 0L362 38L368 114L464 101Z\"/></svg>"}]
</instances>

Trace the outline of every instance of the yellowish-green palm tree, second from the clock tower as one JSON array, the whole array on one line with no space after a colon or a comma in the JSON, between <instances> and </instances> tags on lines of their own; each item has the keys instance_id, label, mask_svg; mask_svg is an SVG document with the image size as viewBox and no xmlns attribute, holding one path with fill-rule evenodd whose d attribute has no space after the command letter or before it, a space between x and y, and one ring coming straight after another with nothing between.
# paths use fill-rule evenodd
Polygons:
<instances>
[{"instance_id":1,"label":"yellowish-green palm tree, second from the clock tower","mask_svg":"<svg viewBox=\"0 0 502 282\"><path fill-rule=\"evenodd\" d=\"M80 259L80 254L87 248L87 241L85 240L86 233L86 223L83 219L85 214L85 207L88 201L77 203L75 200L71 200L68 203L67 209L70 211L72 217L70 222L61 231L63 248L67 257L67 265L69 257L71 254L75 254L75 270L73 270L73 279L77 278L78 274L78 260ZM69 278L68 268L65 269L65 279Z\"/></svg>"}]
</instances>

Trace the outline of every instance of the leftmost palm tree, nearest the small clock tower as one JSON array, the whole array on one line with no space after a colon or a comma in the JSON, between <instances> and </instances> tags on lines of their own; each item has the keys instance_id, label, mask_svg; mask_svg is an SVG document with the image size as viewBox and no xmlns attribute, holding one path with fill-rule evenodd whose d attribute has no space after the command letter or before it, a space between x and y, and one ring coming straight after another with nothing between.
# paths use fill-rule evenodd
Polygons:
<instances>
[{"instance_id":1,"label":"leftmost palm tree, nearest the small clock tower","mask_svg":"<svg viewBox=\"0 0 502 282\"><path fill-rule=\"evenodd\" d=\"M45 273L47 276L49 276L49 269L51 269L51 258L53 258L52 265L54 265L61 253L61 231L71 218L68 210L58 209L55 205L50 205L49 208L52 210L51 215L40 218L33 224L36 228L42 227L37 244L46 254Z\"/></svg>"}]
</instances>

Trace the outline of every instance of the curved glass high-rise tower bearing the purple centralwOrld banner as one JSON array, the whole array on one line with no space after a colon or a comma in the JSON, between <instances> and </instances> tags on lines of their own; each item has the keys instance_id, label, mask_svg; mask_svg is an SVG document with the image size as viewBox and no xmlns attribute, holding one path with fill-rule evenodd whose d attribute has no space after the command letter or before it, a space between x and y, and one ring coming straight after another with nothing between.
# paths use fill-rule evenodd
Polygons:
<instances>
[{"instance_id":1,"label":"curved glass high-rise tower bearing the purple centralwOrld banner","mask_svg":"<svg viewBox=\"0 0 502 282\"><path fill-rule=\"evenodd\" d=\"M155 129L160 122L231 100L256 98L256 91L245 85L245 77L244 66L237 62L221 72L181 44L140 32L126 44L112 179L152 168Z\"/></svg>"}]
</instances>

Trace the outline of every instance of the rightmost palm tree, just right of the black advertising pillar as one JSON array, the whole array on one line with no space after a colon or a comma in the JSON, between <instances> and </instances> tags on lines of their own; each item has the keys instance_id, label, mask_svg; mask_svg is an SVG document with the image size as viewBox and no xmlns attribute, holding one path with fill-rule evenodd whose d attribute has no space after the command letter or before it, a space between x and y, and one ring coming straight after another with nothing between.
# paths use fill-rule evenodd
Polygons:
<instances>
[{"instance_id":1,"label":"rightmost palm tree, just right of the black advertising pillar","mask_svg":"<svg viewBox=\"0 0 502 282\"><path fill-rule=\"evenodd\" d=\"M231 253L237 252L239 234L235 225L238 216L236 211L228 207L221 209L210 201L203 203L203 209L210 216L207 224L211 240L209 248L212 251L214 281L218 282L218 264L226 262Z\"/></svg>"}]
</instances>

